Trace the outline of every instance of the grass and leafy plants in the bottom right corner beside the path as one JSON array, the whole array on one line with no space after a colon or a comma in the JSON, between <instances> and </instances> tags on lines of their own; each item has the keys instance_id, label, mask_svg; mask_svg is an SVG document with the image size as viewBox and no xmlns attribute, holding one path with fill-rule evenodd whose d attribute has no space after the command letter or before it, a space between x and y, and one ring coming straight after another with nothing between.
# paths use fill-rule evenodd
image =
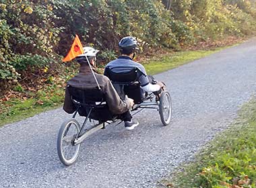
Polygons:
<instances>
[{"instance_id":1,"label":"grass and leafy plants in the bottom right corner beside the path","mask_svg":"<svg viewBox=\"0 0 256 188\"><path fill-rule=\"evenodd\" d=\"M256 97L245 104L236 123L218 135L195 161L184 164L160 187L256 187Z\"/></svg>"}]
</instances>

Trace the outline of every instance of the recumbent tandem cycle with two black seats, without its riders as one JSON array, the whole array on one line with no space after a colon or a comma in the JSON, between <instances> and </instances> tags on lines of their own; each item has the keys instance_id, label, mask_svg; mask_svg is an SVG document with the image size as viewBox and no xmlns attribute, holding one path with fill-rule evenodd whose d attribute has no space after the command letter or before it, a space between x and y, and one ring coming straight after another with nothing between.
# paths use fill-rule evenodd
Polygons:
<instances>
[{"instance_id":1,"label":"recumbent tandem cycle with two black seats, without its riders","mask_svg":"<svg viewBox=\"0 0 256 188\"><path fill-rule=\"evenodd\" d=\"M146 93L141 96L141 87L137 79L139 69L131 68L126 73L115 73L115 70L108 68L107 76L114 87L119 87L122 94L127 95L134 100L135 105L131 111L140 111L141 109L157 109L160 113L160 119L164 126L170 124L172 116L172 104L170 93L166 90L160 95ZM108 105L104 100L104 94L98 87L91 89L81 89L67 85L71 100L77 108L73 113L73 118L66 120L61 125L57 138L57 152L59 159L63 164L69 166L75 162L79 154L81 143L97 130L105 128L111 122L117 122L118 115L114 115L108 110ZM124 96L121 96L123 98ZM75 120L77 112L86 119L82 126ZM136 113L137 113L136 112ZM134 115L134 114L133 114ZM88 128L88 120L96 120L97 124ZM122 121L122 120L120 120Z\"/></svg>"}]
</instances>

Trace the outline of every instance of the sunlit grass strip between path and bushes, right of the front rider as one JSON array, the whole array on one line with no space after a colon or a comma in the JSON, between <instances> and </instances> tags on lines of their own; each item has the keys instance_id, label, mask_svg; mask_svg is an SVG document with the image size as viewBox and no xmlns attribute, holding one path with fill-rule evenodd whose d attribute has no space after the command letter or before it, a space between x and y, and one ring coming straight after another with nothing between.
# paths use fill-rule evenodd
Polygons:
<instances>
[{"instance_id":1,"label":"sunlit grass strip between path and bushes, right of the front rider","mask_svg":"<svg viewBox=\"0 0 256 188\"><path fill-rule=\"evenodd\" d=\"M158 73L162 73L164 71L168 71L172 68L186 64L187 62L191 62L210 54L214 54L222 49L223 48L216 48L215 50L197 50L166 54L161 58L150 60L150 62L143 65L145 66L148 75L156 75Z\"/></svg>"}]
</instances>

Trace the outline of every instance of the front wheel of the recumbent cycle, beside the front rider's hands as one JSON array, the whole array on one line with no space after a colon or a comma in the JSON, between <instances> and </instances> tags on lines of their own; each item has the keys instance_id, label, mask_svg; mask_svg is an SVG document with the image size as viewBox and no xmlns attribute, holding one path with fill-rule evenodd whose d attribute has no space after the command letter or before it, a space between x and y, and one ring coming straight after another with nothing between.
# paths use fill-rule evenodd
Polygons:
<instances>
[{"instance_id":1,"label":"front wheel of the recumbent cycle, beside the front rider's hands","mask_svg":"<svg viewBox=\"0 0 256 188\"><path fill-rule=\"evenodd\" d=\"M172 118L172 100L170 99L170 93L168 93L168 91L163 91L160 96L159 113L162 124L168 126Z\"/></svg>"}]
</instances>

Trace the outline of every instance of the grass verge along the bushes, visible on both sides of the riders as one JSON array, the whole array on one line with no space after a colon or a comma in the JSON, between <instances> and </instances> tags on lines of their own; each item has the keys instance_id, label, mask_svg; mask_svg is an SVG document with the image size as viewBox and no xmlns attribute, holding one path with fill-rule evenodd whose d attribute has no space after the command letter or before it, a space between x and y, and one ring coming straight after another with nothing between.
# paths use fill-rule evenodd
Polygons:
<instances>
[{"instance_id":1,"label":"grass verge along the bushes, visible on both sides of the riders","mask_svg":"<svg viewBox=\"0 0 256 188\"><path fill-rule=\"evenodd\" d=\"M181 66L182 64L186 64L187 62L191 62L192 60L203 58L222 49L224 48L158 54L149 62L146 62L145 60L145 62L142 63L144 64L148 75L155 75L177 66ZM75 71L76 70L66 71L65 73L67 75L65 76L65 80L68 80L71 75L74 75ZM36 91L36 93L21 91L28 94L28 97L25 99L11 98L7 101L0 101L0 126L61 106L64 99L63 80L61 81L62 84L60 81L53 81L52 85L48 85L44 89Z\"/></svg>"}]
</instances>

